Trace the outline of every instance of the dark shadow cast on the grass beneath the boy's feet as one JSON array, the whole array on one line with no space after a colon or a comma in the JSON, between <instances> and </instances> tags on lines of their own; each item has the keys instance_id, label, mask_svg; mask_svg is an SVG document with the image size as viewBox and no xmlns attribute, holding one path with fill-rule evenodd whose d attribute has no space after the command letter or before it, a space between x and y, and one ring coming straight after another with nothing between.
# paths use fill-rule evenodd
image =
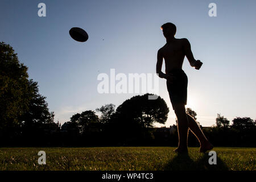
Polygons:
<instances>
[{"instance_id":1,"label":"dark shadow cast on the grass beneath the boy's feet","mask_svg":"<svg viewBox=\"0 0 256 182\"><path fill-rule=\"evenodd\" d=\"M217 164L212 165L208 162L209 158L208 154L204 154L200 159L193 161L188 154L177 154L164 166L164 171L229 170L220 158L217 157Z\"/></svg>"}]
</instances>

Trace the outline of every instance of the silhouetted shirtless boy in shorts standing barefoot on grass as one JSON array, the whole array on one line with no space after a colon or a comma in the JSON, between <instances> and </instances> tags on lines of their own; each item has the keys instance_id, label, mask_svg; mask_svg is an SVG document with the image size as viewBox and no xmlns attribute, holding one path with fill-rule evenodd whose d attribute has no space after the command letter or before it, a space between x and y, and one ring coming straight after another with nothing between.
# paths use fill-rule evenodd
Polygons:
<instances>
[{"instance_id":1,"label":"silhouetted shirtless boy in shorts standing barefoot on grass","mask_svg":"<svg viewBox=\"0 0 256 182\"><path fill-rule=\"evenodd\" d=\"M195 119L186 114L187 85L188 78L182 69L184 57L186 56L191 67L200 69L200 60L195 60L188 39L176 39L176 26L173 23L165 23L161 26L166 44L158 50L156 73L160 78L166 78L167 90L170 96L172 108L177 116L177 129L179 133L179 145L175 152L188 152L188 131L191 130L200 142L200 152L206 152L213 148L212 144L205 138L203 131L197 125ZM166 65L166 73L161 71L163 58ZM189 129L189 130L188 130Z\"/></svg>"}]
</instances>

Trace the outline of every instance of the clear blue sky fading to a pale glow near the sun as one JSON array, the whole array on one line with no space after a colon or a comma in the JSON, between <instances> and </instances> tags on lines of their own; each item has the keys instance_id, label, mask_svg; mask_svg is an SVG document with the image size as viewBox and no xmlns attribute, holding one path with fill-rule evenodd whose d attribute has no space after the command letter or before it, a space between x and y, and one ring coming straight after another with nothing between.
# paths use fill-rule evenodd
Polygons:
<instances>
[{"instance_id":1,"label":"clear blue sky fading to a pale glow near the sun","mask_svg":"<svg viewBox=\"0 0 256 182\"><path fill-rule=\"evenodd\" d=\"M46 17L38 4L46 3ZM209 3L217 17L208 15ZM160 26L177 26L176 38L187 38L199 71L185 58L188 102L203 126L215 123L217 113L256 118L256 1L15 1L0 0L0 41L10 44L30 78L47 97L56 121L104 104L122 104L135 94L99 94L99 73L155 73L156 53L166 40ZM68 31L81 27L85 43ZM104 40L103 40L104 39ZM163 66L164 71L164 66ZM175 123L166 88L160 97L170 107L166 126ZM163 126L163 125L157 125Z\"/></svg>"}]
</instances>

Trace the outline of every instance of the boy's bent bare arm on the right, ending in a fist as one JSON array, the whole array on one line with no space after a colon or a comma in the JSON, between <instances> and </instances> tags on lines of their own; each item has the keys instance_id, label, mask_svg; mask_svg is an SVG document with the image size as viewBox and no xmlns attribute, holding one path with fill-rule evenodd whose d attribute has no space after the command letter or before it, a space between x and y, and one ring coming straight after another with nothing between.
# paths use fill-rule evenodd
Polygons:
<instances>
[{"instance_id":1,"label":"boy's bent bare arm on the right, ending in a fist","mask_svg":"<svg viewBox=\"0 0 256 182\"><path fill-rule=\"evenodd\" d=\"M195 60L195 58L193 56L193 53L191 51L191 45L190 45L188 39L183 39L183 48L184 48L184 51L185 51L185 56L187 57L191 67L195 67L196 69L200 69L201 65L203 63L201 63L200 60Z\"/></svg>"}]
</instances>

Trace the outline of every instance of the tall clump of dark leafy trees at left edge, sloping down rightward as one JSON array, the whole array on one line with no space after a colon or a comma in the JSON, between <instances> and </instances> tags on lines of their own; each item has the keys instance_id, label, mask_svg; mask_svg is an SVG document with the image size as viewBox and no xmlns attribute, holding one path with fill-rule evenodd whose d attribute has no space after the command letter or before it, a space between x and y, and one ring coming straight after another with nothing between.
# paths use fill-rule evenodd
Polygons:
<instances>
[{"instance_id":1,"label":"tall clump of dark leafy trees at left edge, sloping down rightward","mask_svg":"<svg viewBox=\"0 0 256 182\"><path fill-rule=\"evenodd\" d=\"M39 94L38 83L28 80L27 67L19 63L14 49L0 43L0 134L29 133L38 123L52 123L46 97ZM36 123L36 124L35 124Z\"/></svg>"}]
</instances>

